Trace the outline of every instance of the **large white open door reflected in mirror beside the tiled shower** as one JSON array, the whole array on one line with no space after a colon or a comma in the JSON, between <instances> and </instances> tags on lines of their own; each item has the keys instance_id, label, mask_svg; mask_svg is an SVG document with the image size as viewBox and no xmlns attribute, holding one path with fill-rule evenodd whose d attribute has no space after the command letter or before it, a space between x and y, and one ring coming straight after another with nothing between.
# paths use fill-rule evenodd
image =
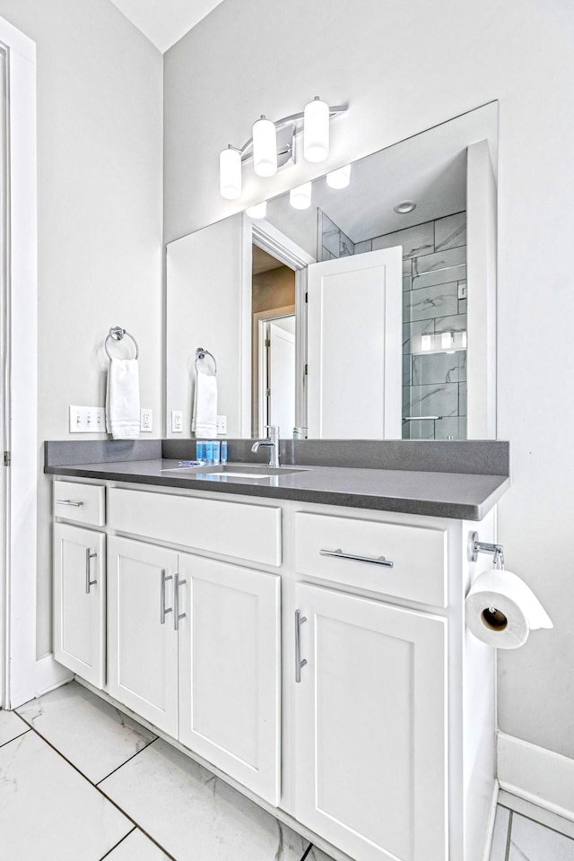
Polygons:
<instances>
[{"instance_id":1,"label":"large white open door reflected in mirror beside the tiled shower","mask_svg":"<svg viewBox=\"0 0 574 861\"><path fill-rule=\"evenodd\" d=\"M309 437L400 439L402 248L309 265Z\"/></svg>"}]
</instances>

